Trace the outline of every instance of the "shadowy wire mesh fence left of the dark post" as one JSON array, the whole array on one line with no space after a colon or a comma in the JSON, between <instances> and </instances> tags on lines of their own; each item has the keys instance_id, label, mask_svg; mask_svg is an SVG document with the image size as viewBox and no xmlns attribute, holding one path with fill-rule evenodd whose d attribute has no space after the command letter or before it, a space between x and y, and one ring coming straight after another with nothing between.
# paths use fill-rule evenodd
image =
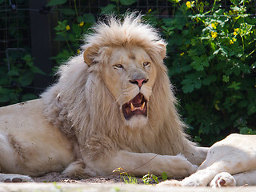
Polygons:
<instances>
[{"instance_id":1,"label":"shadowy wire mesh fence left of the dark post","mask_svg":"<svg viewBox=\"0 0 256 192\"><path fill-rule=\"evenodd\" d=\"M30 50L28 8L26 1L3 1L0 4L0 65L6 65L9 70L10 62L19 59L25 50Z\"/></svg>"}]
</instances>

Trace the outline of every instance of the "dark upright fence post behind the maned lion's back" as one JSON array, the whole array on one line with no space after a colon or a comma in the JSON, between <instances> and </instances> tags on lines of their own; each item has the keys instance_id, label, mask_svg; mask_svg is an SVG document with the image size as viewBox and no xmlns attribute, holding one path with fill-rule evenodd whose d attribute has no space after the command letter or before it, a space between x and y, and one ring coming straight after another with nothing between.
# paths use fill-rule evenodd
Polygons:
<instances>
[{"instance_id":1,"label":"dark upright fence post behind the maned lion's back","mask_svg":"<svg viewBox=\"0 0 256 192\"><path fill-rule=\"evenodd\" d=\"M52 22L54 22L54 14L42 13L42 7L46 6L47 0L30 0L30 33L31 33L31 49L34 65L38 66L48 75L36 74L34 77L34 88L36 94L42 93L42 89L49 86L52 77L54 42L52 30ZM33 9L33 10L32 10ZM54 46L54 47L53 47ZM56 51L56 50L55 50ZM39 89L38 89L39 88Z\"/></svg>"}]
</instances>

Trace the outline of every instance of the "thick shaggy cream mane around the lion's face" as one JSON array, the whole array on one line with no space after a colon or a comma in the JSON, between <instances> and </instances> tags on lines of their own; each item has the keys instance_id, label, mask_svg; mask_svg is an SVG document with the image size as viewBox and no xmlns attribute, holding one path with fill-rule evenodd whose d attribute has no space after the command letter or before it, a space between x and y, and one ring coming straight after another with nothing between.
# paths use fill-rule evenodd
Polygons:
<instances>
[{"instance_id":1,"label":"thick shaggy cream mane around the lion's face","mask_svg":"<svg viewBox=\"0 0 256 192\"><path fill-rule=\"evenodd\" d=\"M90 158L118 149L140 153L182 153L185 146L193 144L184 134L185 126L175 109L176 99L162 62L159 44L165 42L154 28L142 21L141 16L129 14L123 20L110 17L108 21L99 22L93 28L94 33L85 38L82 49L90 48L88 59L91 65L84 62L82 54L71 58L58 70L58 82L42 94L46 118L68 137L73 135L80 150L90 148ZM125 126L120 106L102 81L102 63L108 62L110 57L105 48L124 45L141 46L157 67L148 122L144 127Z\"/></svg>"}]
</instances>

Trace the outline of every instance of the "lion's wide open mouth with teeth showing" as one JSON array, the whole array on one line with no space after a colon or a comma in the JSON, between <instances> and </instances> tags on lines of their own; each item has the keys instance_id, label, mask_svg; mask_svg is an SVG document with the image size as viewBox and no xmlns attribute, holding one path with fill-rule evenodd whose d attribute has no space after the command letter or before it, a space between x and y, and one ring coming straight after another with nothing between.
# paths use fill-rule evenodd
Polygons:
<instances>
[{"instance_id":1,"label":"lion's wide open mouth with teeth showing","mask_svg":"<svg viewBox=\"0 0 256 192\"><path fill-rule=\"evenodd\" d=\"M147 115L147 101L143 94L137 94L135 98L126 102L122 106L122 113L124 114L126 120L129 120L135 114Z\"/></svg>"}]
</instances>

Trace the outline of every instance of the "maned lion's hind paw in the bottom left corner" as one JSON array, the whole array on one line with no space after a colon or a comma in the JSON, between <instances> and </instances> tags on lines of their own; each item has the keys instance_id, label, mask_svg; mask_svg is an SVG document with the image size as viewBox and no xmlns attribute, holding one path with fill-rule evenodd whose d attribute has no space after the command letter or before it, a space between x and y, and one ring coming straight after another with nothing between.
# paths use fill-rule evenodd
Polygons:
<instances>
[{"instance_id":1,"label":"maned lion's hind paw in the bottom left corner","mask_svg":"<svg viewBox=\"0 0 256 192\"><path fill-rule=\"evenodd\" d=\"M0 182L34 182L34 180L22 174L0 174Z\"/></svg>"}]
</instances>

